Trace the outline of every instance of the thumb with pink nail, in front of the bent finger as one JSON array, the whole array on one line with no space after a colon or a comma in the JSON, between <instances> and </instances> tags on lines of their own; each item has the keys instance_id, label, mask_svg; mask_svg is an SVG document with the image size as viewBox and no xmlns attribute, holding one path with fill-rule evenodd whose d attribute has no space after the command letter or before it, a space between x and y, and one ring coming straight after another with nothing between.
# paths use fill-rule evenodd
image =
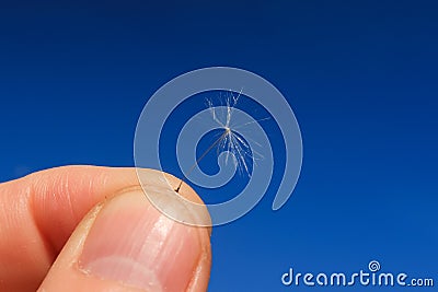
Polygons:
<instances>
[{"instance_id":1,"label":"thumb with pink nail, in front of the bent finger","mask_svg":"<svg viewBox=\"0 0 438 292\"><path fill-rule=\"evenodd\" d=\"M165 197L169 188L151 191ZM169 219L141 190L130 190L90 211L39 290L206 291L210 261L207 229Z\"/></svg>"}]
</instances>

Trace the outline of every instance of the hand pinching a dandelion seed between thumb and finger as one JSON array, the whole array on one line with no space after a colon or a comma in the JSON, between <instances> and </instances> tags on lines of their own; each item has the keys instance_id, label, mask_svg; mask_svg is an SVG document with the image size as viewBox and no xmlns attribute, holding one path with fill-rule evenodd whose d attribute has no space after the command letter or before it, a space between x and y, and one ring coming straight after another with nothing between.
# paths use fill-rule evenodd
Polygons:
<instances>
[{"instance_id":1,"label":"hand pinching a dandelion seed between thumb and finger","mask_svg":"<svg viewBox=\"0 0 438 292\"><path fill-rule=\"evenodd\" d=\"M142 172L169 191L162 173ZM38 172L0 184L0 291L206 291L209 232L154 209L134 168Z\"/></svg>"}]
</instances>

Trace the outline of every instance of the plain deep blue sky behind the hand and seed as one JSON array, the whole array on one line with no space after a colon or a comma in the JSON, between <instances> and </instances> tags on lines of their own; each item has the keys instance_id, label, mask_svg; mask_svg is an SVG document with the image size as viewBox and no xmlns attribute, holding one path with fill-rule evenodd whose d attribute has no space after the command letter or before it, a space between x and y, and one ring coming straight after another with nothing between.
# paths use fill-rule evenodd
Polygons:
<instances>
[{"instance_id":1,"label":"plain deep blue sky behind the hand and seed","mask_svg":"<svg viewBox=\"0 0 438 292\"><path fill-rule=\"evenodd\" d=\"M293 291L280 283L289 267L353 272L371 259L437 283L437 13L436 1L1 1L0 180L134 165L157 89L239 67L288 98L303 167L283 209L270 210L273 187L214 230L210 291ZM328 291L300 289L312 290Z\"/></svg>"}]
</instances>

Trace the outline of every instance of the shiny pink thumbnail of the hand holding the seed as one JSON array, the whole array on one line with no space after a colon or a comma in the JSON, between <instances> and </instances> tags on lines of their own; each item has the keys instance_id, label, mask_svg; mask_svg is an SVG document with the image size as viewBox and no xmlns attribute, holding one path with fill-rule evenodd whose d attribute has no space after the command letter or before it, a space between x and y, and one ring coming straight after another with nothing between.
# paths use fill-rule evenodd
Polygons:
<instances>
[{"instance_id":1,"label":"shiny pink thumbnail of the hand holding the seed","mask_svg":"<svg viewBox=\"0 0 438 292\"><path fill-rule=\"evenodd\" d=\"M162 191L165 198L169 190L153 191L157 196ZM200 254L196 227L169 219L149 203L142 191L134 191L115 197L99 212L84 242L79 268L146 291L185 291Z\"/></svg>"}]
</instances>

